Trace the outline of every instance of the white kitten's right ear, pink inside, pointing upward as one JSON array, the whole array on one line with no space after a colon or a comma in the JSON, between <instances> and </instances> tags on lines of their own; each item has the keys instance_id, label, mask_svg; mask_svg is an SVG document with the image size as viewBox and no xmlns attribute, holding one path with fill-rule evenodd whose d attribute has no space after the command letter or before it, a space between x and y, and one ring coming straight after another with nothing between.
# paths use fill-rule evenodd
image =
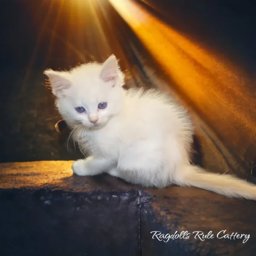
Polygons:
<instances>
[{"instance_id":1,"label":"white kitten's right ear, pink inside, pointing upward","mask_svg":"<svg viewBox=\"0 0 256 256\"><path fill-rule=\"evenodd\" d=\"M115 55L111 55L104 63L100 73L100 79L105 82L118 79L119 66Z\"/></svg>"}]
</instances>

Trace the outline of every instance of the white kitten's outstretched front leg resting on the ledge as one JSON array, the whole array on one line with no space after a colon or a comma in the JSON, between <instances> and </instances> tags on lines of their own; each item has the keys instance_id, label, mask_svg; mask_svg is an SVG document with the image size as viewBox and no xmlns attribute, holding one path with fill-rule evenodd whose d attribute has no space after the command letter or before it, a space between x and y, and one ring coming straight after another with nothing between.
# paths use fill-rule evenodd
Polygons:
<instances>
[{"instance_id":1,"label":"white kitten's outstretched front leg resting on the ledge","mask_svg":"<svg viewBox=\"0 0 256 256\"><path fill-rule=\"evenodd\" d=\"M87 157L72 165L73 172L79 176L97 175L113 166L112 161L103 158Z\"/></svg>"}]
</instances>

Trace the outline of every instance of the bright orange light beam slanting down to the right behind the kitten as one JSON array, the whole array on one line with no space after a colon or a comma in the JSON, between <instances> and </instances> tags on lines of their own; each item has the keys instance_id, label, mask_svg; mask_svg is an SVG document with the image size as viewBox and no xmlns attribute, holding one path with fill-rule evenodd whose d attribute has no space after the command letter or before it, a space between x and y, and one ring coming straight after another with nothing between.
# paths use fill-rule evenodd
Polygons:
<instances>
[{"instance_id":1,"label":"bright orange light beam slanting down to the right behind the kitten","mask_svg":"<svg viewBox=\"0 0 256 256\"><path fill-rule=\"evenodd\" d=\"M238 86L243 75L236 75L238 71L230 63L180 35L134 0L109 1L175 82L176 89L184 93L201 114L211 119L216 130L218 122L227 122L229 127L228 122L234 119L251 131L255 129L250 110L238 107L243 105L247 92ZM256 108L253 100L249 104L249 108ZM221 114L223 110L225 115ZM231 125L237 125L236 120L234 123ZM234 137L234 140L239 143L241 137Z\"/></svg>"}]
</instances>

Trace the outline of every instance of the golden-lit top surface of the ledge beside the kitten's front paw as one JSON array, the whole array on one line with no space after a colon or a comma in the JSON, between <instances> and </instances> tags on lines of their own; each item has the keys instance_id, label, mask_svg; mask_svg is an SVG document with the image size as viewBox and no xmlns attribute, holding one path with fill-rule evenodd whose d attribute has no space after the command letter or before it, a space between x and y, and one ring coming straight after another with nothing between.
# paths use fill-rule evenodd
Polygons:
<instances>
[{"instance_id":1,"label":"golden-lit top surface of the ledge beside the kitten's front paw","mask_svg":"<svg viewBox=\"0 0 256 256\"><path fill-rule=\"evenodd\" d=\"M70 191L125 191L137 189L110 175L81 177L73 175L73 161L0 163L0 189L47 188Z\"/></svg>"}]
</instances>

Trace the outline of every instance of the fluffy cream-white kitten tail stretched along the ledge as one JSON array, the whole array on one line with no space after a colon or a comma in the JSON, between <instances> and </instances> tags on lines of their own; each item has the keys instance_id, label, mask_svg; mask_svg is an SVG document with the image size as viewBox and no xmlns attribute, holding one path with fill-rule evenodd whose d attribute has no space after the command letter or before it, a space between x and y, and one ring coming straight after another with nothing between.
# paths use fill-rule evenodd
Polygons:
<instances>
[{"instance_id":1,"label":"fluffy cream-white kitten tail stretched along the ledge","mask_svg":"<svg viewBox=\"0 0 256 256\"><path fill-rule=\"evenodd\" d=\"M187 165L177 174L174 182L180 186L194 186L233 198L256 200L256 186L232 175L215 174Z\"/></svg>"}]
</instances>

